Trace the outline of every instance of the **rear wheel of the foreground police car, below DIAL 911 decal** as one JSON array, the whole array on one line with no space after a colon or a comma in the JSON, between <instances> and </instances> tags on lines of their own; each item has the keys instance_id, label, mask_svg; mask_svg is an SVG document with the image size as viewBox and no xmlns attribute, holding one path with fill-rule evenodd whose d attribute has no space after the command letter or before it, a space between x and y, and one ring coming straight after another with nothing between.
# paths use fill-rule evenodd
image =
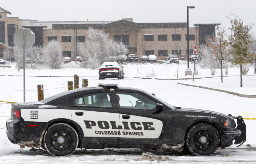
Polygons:
<instances>
[{"instance_id":1,"label":"rear wheel of the foreground police car, below DIAL 911 decal","mask_svg":"<svg viewBox=\"0 0 256 164\"><path fill-rule=\"evenodd\" d=\"M46 130L43 143L50 155L70 156L78 146L78 134L70 125L56 123Z\"/></svg>"}]
</instances>

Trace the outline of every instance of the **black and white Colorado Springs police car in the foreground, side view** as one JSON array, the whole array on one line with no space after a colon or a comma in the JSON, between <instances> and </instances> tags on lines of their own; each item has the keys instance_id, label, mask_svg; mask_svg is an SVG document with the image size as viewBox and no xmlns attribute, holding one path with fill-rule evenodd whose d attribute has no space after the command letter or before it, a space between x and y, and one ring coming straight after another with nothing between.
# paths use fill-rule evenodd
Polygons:
<instances>
[{"instance_id":1,"label":"black and white Colorado Springs police car in the foreground, side view","mask_svg":"<svg viewBox=\"0 0 256 164\"><path fill-rule=\"evenodd\" d=\"M174 107L141 89L98 85L12 104L9 140L54 156L69 156L76 148L167 148L211 155L233 140L246 141L241 116Z\"/></svg>"}]
</instances>

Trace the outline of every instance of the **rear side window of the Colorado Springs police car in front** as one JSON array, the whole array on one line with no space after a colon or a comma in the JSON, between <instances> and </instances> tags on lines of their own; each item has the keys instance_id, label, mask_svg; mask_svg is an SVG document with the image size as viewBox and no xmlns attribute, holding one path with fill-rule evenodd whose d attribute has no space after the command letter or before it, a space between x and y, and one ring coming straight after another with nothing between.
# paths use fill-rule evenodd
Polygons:
<instances>
[{"instance_id":1,"label":"rear side window of the Colorado Springs police car in front","mask_svg":"<svg viewBox=\"0 0 256 164\"><path fill-rule=\"evenodd\" d=\"M77 97L74 99L75 105L112 107L110 93L95 93Z\"/></svg>"}]
</instances>

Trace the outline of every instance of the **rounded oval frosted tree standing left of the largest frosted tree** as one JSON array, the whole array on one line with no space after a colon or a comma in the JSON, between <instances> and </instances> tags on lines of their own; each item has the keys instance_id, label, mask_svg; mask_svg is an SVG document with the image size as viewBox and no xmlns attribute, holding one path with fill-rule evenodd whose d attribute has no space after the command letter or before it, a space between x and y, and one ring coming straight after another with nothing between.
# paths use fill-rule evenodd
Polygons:
<instances>
[{"instance_id":1,"label":"rounded oval frosted tree standing left of the largest frosted tree","mask_svg":"<svg viewBox=\"0 0 256 164\"><path fill-rule=\"evenodd\" d=\"M62 46L56 40L51 40L43 47L44 63L51 69L59 69L62 64Z\"/></svg>"}]
</instances>

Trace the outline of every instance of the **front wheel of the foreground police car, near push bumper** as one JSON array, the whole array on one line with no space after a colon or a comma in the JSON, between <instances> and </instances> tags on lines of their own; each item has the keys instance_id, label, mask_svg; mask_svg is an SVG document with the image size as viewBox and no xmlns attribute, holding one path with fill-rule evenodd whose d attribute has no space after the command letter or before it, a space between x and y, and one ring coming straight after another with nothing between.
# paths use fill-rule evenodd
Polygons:
<instances>
[{"instance_id":1,"label":"front wheel of the foreground police car, near push bumper","mask_svg":"<svg viewBox=\"0 0 256 164\"><path fill-rule=\"evenodd\" d=\"M219 147L219 133L207 123L193 125L186 133L185 147L192 155L212 155Z\"/></svg>"}]
</instances>

